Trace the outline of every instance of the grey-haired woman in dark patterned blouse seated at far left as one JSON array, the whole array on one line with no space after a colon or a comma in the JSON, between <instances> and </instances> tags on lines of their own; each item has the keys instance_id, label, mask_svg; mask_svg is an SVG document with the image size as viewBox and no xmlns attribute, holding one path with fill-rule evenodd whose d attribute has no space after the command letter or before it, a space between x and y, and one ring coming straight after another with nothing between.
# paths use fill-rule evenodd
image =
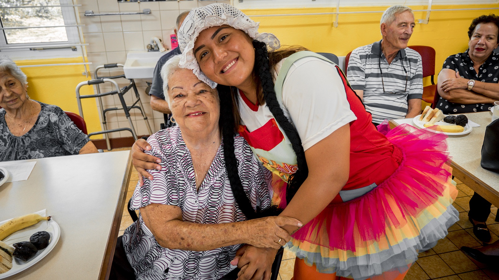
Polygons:
<instances>
[{"instance_id":1,"label":"grey-haired woman in dark patterned blouse seated at far left","mask_svg":"<svg viewBox=\"0 0 499 280\"><path fill-rule=\"evenodd\" d=\"M59 107L29 99L26 80L0 56L0 161L97 152Z\"/></svg>"}]
</instances>

